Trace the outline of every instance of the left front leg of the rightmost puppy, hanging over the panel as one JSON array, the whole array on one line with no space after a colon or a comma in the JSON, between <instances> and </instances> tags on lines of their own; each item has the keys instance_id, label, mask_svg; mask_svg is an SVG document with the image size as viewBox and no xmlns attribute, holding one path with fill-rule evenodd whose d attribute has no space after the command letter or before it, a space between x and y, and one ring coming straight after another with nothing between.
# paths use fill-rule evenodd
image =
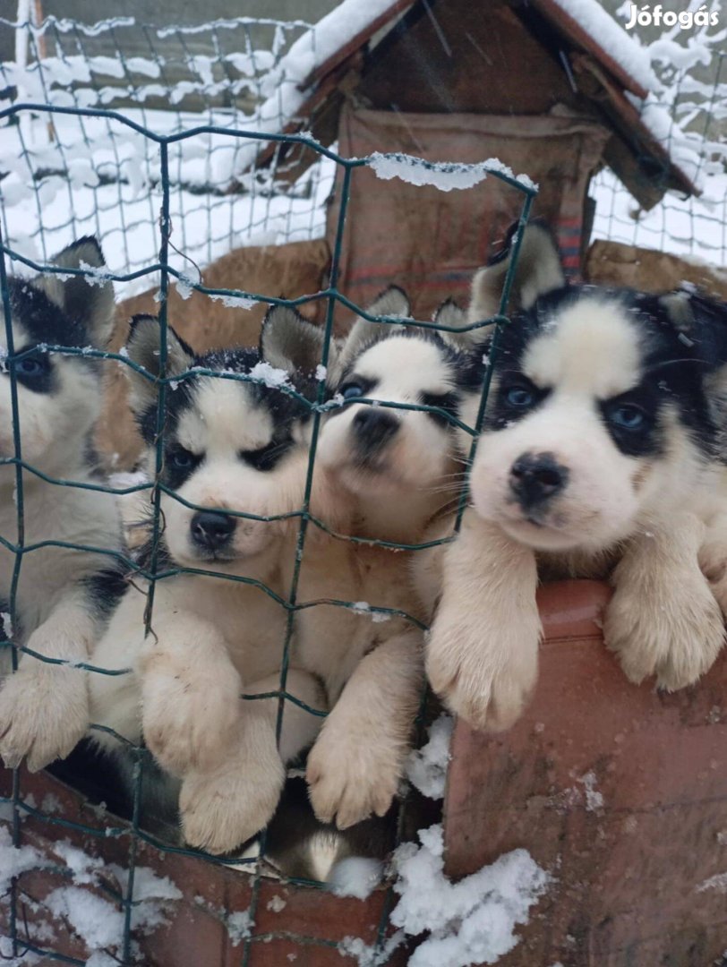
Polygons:
<instances>
[{"instance_id":1,"label":"left front leg of the rightmost puppy, hanging over the panel","mask_svg":"<svg viewBox=\"0 0 727 967\"><path fill-rule=\"evenodd\" d=\"M444 552L426 673L451 712L474 728L509 728L535 686L537 587L534 552L468 510Z\"/></svg>"}]
</instances>

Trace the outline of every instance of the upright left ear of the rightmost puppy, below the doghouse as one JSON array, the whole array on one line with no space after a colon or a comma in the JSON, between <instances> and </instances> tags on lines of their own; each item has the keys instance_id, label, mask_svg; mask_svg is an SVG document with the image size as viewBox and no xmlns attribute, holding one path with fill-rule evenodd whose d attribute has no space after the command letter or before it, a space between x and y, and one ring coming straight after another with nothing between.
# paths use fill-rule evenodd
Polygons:
<instances>
[{"instance_id":1,"label":"upright left ear of the rightmost puppy, below the doghouse","mask_svg":"<svg viewBox=\"0 0 727 967\"><path fill-rule=\"evenodd\" d=\"M503 286L512 259L517 222L510 225L505 248L472 279L472 298L467 322L481 322L500 311ZM509 295L510 308L530 308L539 296L566 284L561 257L552 232L542 221L523 229L515 274Z\"/></svg>"}]
</instances>

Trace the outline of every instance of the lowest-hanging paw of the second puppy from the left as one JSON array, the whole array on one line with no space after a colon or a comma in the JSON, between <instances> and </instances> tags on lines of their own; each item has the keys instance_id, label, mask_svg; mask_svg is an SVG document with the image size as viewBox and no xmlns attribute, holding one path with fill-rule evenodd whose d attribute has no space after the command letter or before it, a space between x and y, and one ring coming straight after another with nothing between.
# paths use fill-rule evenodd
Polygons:
<instances>
[{"instance_id":1,"label":"lowest-hanging paw of the second puppy from the left","mask_svg":"<svg viewBox=\"0 0 727 967\"><path fill-rule=\"evenodd\" d=\"M211 772L190 773L179 800L185 840L208 853L229 853L267 826L284 781L282 762L273 755L244 762L232 757Z\"/></svg>"}]
</instances>

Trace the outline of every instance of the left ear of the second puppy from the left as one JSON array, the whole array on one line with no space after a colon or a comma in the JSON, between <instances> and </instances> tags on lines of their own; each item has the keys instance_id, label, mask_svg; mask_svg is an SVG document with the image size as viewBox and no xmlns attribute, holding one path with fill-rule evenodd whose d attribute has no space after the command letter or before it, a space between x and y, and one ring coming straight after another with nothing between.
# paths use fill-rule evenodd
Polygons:
<instances>
[{"instance_id":1,"label":"left ear of the second puppy from the left","mask_svg":"<svg viewBox=\"0 0 727 967\"><path fill-rule=\"evenodd\" d=\"M135 315L131 319L129 338L125 346L127 358L142 366L152 377L160 375L160 325L154 315ZM166 327L166 375L180 376L193 366L194 353L171 326ZM124 366L129 379L129 402L135 414L144 413L157 402L158 389L149 379L131 366Z\"/></svg>"}]
</instances>

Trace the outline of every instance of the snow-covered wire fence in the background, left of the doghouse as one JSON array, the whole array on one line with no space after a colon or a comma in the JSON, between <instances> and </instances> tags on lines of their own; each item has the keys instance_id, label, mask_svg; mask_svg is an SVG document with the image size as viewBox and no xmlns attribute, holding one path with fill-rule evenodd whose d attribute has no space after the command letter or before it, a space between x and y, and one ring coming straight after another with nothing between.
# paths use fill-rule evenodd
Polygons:
<instances>
[{"instance_id":1,"label":"snow-covered wire fence in the background, left of the doghouse","mask_svg":"<svg viewBox=\"0 0 727 967\"><path fill-rule=\"evenodd\" d=\"M209 126L167 142L175 244L193 261L209 263L258 240L323 234L333 161L315 156L317 163L289 177L290 143L276 142L260 166L249 142L215 131L285 130L297 94L286 54L302 37L315 44L303 20L155 27L124 16L96 24L49 16L39 26L0 18L0 31L15 32L17 48L14 62L0 63L0 104L123 109L141 129L168 135ZM6 240L44 261L73 238L95 234L110 264L127 272L144 266L155 250L161 196L152 142L131 128L121 137L103 114L28 111L15 122L0 147ZM301 150L309 151L305 143ZM24 217L15 218L23 203Z\"/></svg>"}]
</instances>

